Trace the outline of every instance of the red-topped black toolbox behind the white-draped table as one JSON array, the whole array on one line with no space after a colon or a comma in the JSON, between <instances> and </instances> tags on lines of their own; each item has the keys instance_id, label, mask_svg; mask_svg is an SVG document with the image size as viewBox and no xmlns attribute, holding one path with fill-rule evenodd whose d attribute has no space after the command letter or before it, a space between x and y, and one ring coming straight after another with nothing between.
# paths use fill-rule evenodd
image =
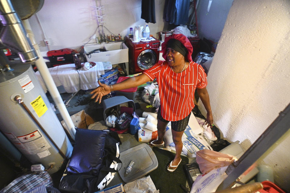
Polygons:
<instances>
[{"instance_id":1,"label":"red-topped black toolbox behind the white-draped table","mask_svg":"<svg viewBox=\"0 0 290 193\"><path fill-rule=\"evenodd\" d=\"M64 48L48 51L47 56L52 65L73 64L74 53L78 52L74 49Z\"/></svg>"}]
</instances>

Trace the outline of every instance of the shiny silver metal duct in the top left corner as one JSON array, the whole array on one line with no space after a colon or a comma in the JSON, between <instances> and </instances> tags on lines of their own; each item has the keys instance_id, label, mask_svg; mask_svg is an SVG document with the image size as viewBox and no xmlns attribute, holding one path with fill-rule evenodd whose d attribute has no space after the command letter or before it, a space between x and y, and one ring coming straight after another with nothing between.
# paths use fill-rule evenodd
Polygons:
<instances>
[{"instance_id":1,"label":"shiny silver metal duct in the top left corner","mask_svg":"<svg viewBox=\"0 0 290 193\"><path fill-rule=\"evenodd\" d=\"M0 20L0 44L3 49L10 48L17 52L23 63L36 61L38 56L10 0L0 0Z\"/></svg>"}]
</instances>

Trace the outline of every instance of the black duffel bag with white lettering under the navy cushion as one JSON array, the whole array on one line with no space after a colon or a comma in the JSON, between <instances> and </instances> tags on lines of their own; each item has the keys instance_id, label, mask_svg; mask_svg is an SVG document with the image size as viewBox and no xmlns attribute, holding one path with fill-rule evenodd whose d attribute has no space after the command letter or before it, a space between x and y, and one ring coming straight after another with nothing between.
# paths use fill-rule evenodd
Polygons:
<instances>
[{"instance_id":1,"label":"black duffel bag with white lettering under the navy cushion","mask_svg":"<svg viewBox=\"0 0 290 193\"><path fill-rule=\"evenodd\" d=\"M59 189L63 193L93 193L104 189L114 178L118 163L121 163L120 138L116 132L109 132L105 141L105 156L98 176L64 172Z\"/></svg>"}]
</instances>

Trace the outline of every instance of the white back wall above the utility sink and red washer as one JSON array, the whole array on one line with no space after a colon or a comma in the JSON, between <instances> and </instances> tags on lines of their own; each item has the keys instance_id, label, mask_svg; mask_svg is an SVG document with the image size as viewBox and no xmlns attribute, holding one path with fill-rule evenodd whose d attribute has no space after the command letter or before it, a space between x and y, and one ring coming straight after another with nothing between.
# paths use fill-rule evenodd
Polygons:
<instances>
[{"instance_id":1,"label":"white back wall above the utility sink and red washer","mask_svg":"<svg viewBox=\"0 0 290 193\"><path fill-rule=\"evenodd\" d=\"M45 0L43 7L37 13L43 31L36 15L29 18L40 51L47 52L43 42L45 37L51 39L50 50L77 49L89 41L97 28L95 15L100 14L100 11L94 11L96 2L104 6L102 10L102 14L106 17L104 25L111 33L116 35L120 33L124 37L129 33L130 27L148 25L150 34L156 37L156 33L163 29L162 14L165 0L155 1L155 24L145 23L145 20L141 19L140 0ZM111 34L108 30L104 28L105 35ZM96 34L98 36L98 32ZM95 43L95 40L89 43Z\"/></svg>"}]
</instances>

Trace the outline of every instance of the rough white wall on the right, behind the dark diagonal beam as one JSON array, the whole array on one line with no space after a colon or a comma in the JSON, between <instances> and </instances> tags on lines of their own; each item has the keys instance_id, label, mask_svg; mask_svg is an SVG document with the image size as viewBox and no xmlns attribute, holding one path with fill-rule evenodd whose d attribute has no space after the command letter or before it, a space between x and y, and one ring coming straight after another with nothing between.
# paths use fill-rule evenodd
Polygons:
<instances>
[{"instance_id":1,"label":"rough white wall on the right, behind the dark diagonal beam","mask_svg":"<svg viewBox=\"0 0 290 193\"><path fill-rule=\"evenodd\" d=\"M244 150L290 102L289 26L288 0L234 0L230 8L207 89L215 125ZM288 136L263 160L273 168L275 183L288 191L289 144Z\"/></svg>"}]
</instances>

